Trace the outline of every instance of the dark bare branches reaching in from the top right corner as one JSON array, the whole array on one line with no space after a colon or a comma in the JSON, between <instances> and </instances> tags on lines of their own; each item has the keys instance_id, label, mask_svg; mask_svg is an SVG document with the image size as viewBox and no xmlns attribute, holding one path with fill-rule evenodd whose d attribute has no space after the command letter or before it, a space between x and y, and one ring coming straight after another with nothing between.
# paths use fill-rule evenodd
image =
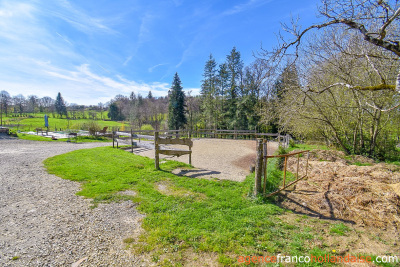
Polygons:
<instances>
[{"instance_id":1,"label":"dark bare branches reaching in from the top right corner","mask_svg":"<svg viewBox=\"0 0 400 267\"><path fill-rule=\"evenodd\" d=\"M373 44L385 51L389 51L400 59L400 1L398 0L322 0L319 14L325 18L321 24L311 25L301 29L297 20L291 24L283 24L284 31L294 38L287 40L279 35L280 44L273 51L262 50L261 54L272 61L280 61L284 56L291 54L299 56L299 49L305 36L314 29L342 26L348 31L359 34L365 42ZM357 90L395 90L400 93L400 69L397 72L395 84L388 84L381 80L379 84L368 87L357 87ZM333 84L332 86L343 86ZM350 84L345 84L352 87ZM372 106L372 105L371 105ZM396 108L400 104L396 105ZM375 107L377 108L377 107ZM386 110L385 110L386 111Z\"/></svg>"}]
</instances>

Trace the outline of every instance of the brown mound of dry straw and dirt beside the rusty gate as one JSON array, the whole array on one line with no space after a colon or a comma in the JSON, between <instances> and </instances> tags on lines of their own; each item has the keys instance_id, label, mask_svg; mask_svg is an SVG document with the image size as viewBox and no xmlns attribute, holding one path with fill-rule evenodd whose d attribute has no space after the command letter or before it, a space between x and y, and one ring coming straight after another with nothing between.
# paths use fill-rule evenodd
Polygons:
<instances>
[{"instance_id":1,"label":"brown mound of dry straw and dirt beside the rusty gate","mask_svg":"<svg viewBox=\"0 0 400 267\"><path fill-rule=\"evenodd\" d=\"M322 161L321 161L322 160ZM359 157L359 162L371 160ZM288 160L295 172L297 160ZM305 162L300 163L300 170ZM341 219L374 227L400 229L400 172L384 163L348 165L344 154L318 150L310 153L309 178L286 191L283 206L320 217Z\"/></svg>"}]
</instances>

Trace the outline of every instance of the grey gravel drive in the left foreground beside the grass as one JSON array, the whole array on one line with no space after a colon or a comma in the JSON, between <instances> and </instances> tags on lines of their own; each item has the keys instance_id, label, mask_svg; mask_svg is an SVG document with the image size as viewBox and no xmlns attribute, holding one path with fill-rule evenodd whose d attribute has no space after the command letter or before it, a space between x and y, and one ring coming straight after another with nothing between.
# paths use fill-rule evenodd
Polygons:
<instances>
[{"instance_id":1,"label":"grey gravel drive in the left foreground beside the grass","mask_svg":"<svg viewBox=\"0 0 400 267\"><path fill-rule=\"evenodd\" d=\"M0 266L145 266L124 249L137 237L130 201L100 204L76 196L79 183L50 175L43 160L105 143L35 142L0 136Z\"/></svg>"}]
</instances>

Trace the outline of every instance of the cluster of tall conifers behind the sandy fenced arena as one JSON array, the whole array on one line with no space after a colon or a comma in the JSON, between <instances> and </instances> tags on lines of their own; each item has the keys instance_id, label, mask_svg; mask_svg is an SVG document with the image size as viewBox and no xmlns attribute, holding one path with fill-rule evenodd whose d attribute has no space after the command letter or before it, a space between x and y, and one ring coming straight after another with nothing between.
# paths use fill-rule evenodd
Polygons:
<instances>
[{"instance_id":1,"label":"cluster of tall conifers behind the sandy fenced arena","mask_svg":"<svg viewBox=\"0 0 400 267\"><path fill-rule=\"evenodd\" d=\"M261 60L244 67L235 47L221 64L210 55L201 85L202 126L217 129L260 126L260 100L266 89L266 71Z\"/></svg>"}]
</instances>

